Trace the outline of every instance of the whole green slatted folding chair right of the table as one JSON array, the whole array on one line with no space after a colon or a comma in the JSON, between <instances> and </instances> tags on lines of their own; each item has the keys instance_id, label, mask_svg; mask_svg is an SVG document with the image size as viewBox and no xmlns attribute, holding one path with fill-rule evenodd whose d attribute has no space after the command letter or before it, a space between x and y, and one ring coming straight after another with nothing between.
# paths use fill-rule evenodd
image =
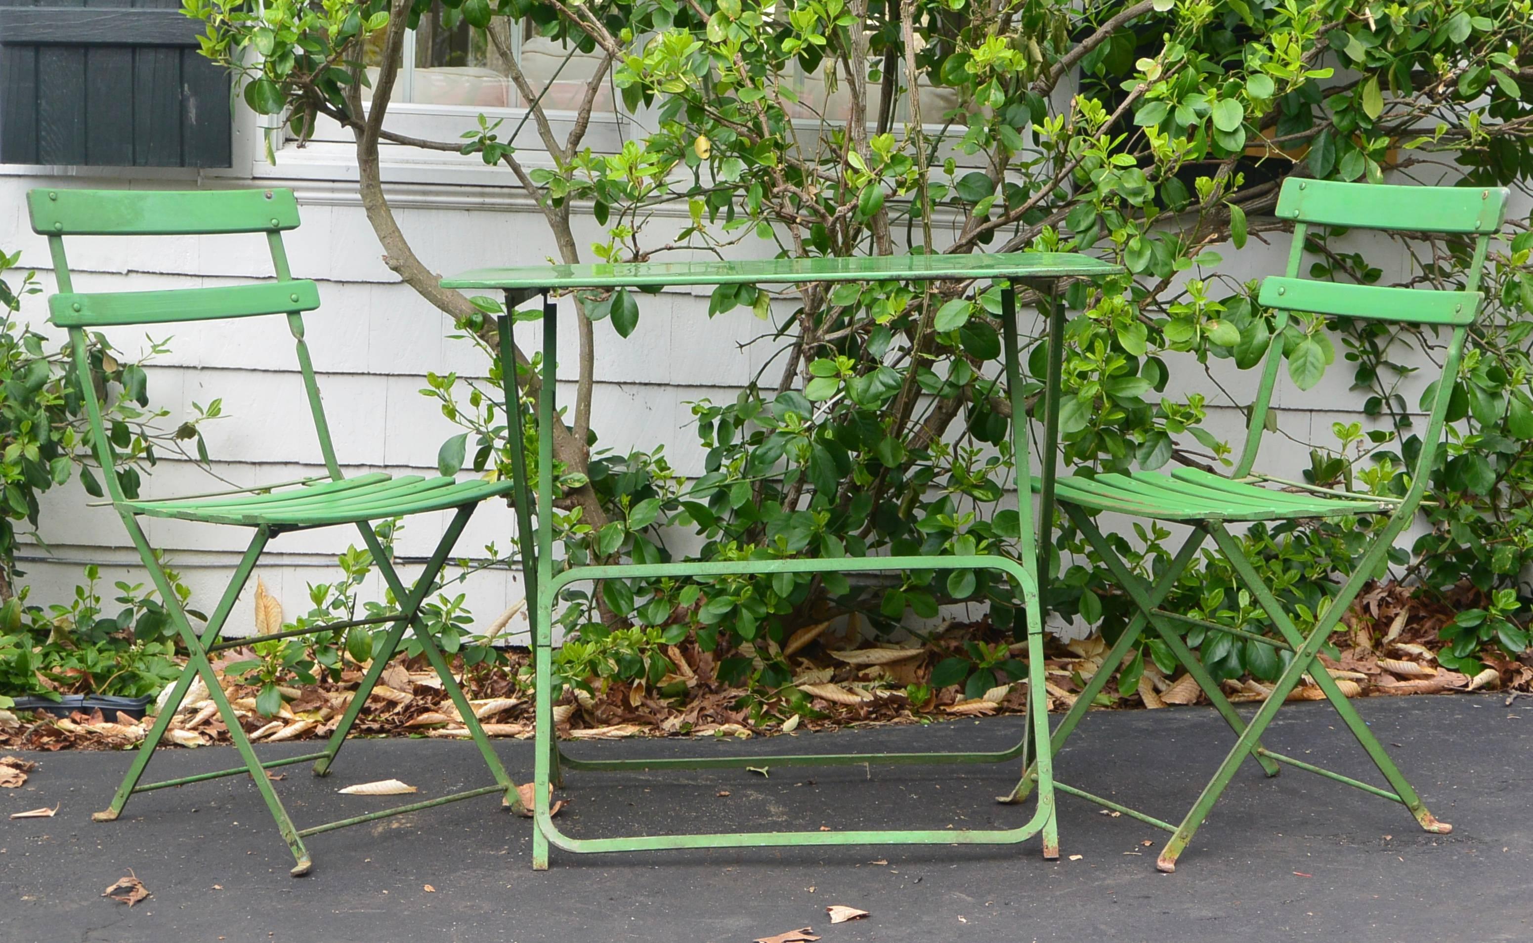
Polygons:
<instances>
[{"instance_id":1,"label":"whole green slatted folding chair right of the table","mask_svg":"<svg viewBox=\"0 0 1533 943\"><path fill-rule=\"evenodd\" d=\"M1251 406L1251 425L1245 449L1231 477L1226 478L1206 471L1183 468L1170 474L1141 471L1059 478L1059 506L1102 557L1113 578L1128 593L1137 612L1116 644L1108 650L1107 658L1102 661L1102 670L1096 672L1069 715L1055 728L1050 739L1052 750L1055 753L1059 751L1076 724L1079 724L1081 718L1090 708L1091 701L1116 673L1116 665L1122 664L1124 656L1141 638L1145 627L1153 629L1165 641L1176 659L1187 667L1188 673L1197 681L1214 708L1234 728L1239 738L1180 825L1170 825L1055 779L1055 788L1062 793L1090 799L1173 833L1156 862L1160 871L1176 871L1177 856L1187 848L1193 833L1197 831L1197 826L1208 816L1210 810L1219 800L1220 793L1223 793L1229 779L1248 756L1256 757L1268 776L1277 774L1279 764L1318 773L1328 779L1404 805L1426 831L1436 834L1452 831L1452 825L1438 822L1427 811L1416 791L1410 788L1410 784L1406 782L1406 777L1395 767L1393 761L1390 761L1383 745L1369 731L1367 724L1338 690L1335 681L1325 670L1325 665L1317 661L1317 655L1358 590L1378 572L1395 538L1410 523L1416 506L1421 503L1432 460L1443 437L1444 416L1453 394L1453 382L1458 377L1464 339L1469 334L1469 327L1475 322L1475 314L1482 299L1482 294L1476 288L1479 287L1487 245L1490 235L1501 230L1505 202L1505 190L1485 187L1397 187L1302 179L1288 179L1283 182L1283 190L1277 202L1277 216L1279 219L1294 221L1288 274L1265 279L1259 296L1262 305L1277 311L1275 330L1272 331L1274 339L1282 336L1289 311L1366 317L1452 330L1447 356L1443 362L1443 376L1432 400L1432 417L1427 422L1427 431L1421 443L1421 454L1416 457L1409 478L1410 486L1403 497L1355 495L1285 481L1251 471L1262 442L1262 431L1266 426L1272 383L1277 380L1282 362L1280 343L1271 343L1266 354L1265 370L1257 386L1257 397ZM1306 281L1298 278L1298 273L1305 251L1305 233L1311 225L1473 235L1476 236L1475 258L1467 271L1462 291L1381 288ZM1274 483L1282 483L1285 491L1269 486ZM1295 488L1302 494L1295 494L1292 491ZM1093 521L1095 514L1101 511L1114 511L1160 521L1179 521L1191 524L1193 532L1171 564L1151 583L1133 573L1122 557L1102 537L1101 529ZM1318 618L1314 629L1305 635L1294 624L1283 603L1277 600L1246 560L1240 543L1229 534L1228 524L1348 515L1387 515L1387 520L1375 527L1372 544L1357 560L1355 569L1332 598L1329 609ZM1282 641L1160 609L1160 603L1193 561L1197 549L1210 537L1229 560L1239 580L1251 592L1251 596L1266 610L1272 624L1282 633ZM1200 626L1206 630L1226 632L1237 638L1271 644L1292 653L1288 667L1279 676L1272 692L1249 724L1243 722L1240 715L1229 705L1229 701L1219 690L1217 682L1208 675L1179 635L1177 626L1182 626L1182 630L1187 626ZM1341 715L1343 724L1352 731L1358 744L1363 745L1363 750L1378 767L1380 773L1384 774L1389 784L1387 790L1331 770L1323 770L1291 756L1283 756L1260 744L1262 733L1272 722L1285 698L1288 698L1289 692L1294 690L1306 673L1314 678L1314 682L1325 693L1326 699ZM1013 800L1021 800L1027 794L1030 788L1029 776L1030 773L1024 774L1018 790L1012 794Z\"/></svg>"}]
</instances>

